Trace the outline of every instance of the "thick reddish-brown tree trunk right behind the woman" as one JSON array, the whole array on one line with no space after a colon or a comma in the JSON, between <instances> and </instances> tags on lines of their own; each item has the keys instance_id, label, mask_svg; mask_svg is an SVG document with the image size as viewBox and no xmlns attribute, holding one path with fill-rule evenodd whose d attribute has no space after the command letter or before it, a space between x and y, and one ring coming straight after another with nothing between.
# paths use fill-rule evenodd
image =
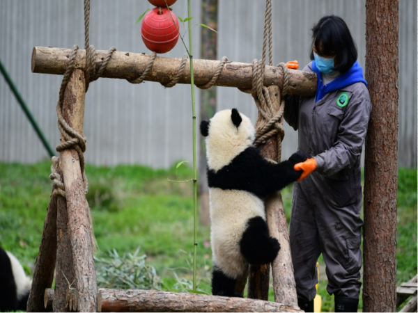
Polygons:
<instances>
[{"instance_id":1,"label":"thick reddish-brown tree trunk right behind the woman","mask_svg":"<svg viewBox=\"0 0 418 313\"><path fill-rule=\"evenodd\" d=\"M398 0L366 0L366 80L363 310L396 312Z\"/></svg>"}]
</instances>

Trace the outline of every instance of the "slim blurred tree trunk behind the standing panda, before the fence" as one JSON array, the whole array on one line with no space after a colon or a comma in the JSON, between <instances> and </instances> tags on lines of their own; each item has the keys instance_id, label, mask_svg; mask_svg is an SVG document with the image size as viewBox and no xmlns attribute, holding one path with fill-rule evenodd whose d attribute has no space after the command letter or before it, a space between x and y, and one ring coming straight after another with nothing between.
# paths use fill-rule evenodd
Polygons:
<instances>
[{"instance_id":1,"label":"slim blurred tree trunk behind the standing panda, before the fence","mask_svg":"<svg viewBox=\"0 0 418 313\"><path fill-rule=\"evenodd\" d=\"M217 30L217 0L203 0L201 8L202 23ZM201 58L217 59L217 33L206 27L201 27ZM212 118L216 111L216 88L201 90L200 120ZM202 225L210 225L209 191L206 179L206 149L205 138L200 137L199 149L199 203Z\"/></svg>"}]
</instances>

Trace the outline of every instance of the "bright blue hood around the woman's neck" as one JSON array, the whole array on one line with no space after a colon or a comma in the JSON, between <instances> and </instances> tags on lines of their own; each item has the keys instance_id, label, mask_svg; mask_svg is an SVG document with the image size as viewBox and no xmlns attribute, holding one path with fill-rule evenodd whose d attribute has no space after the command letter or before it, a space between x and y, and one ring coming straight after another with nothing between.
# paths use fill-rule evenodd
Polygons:
<instances>
[{"instance_id":1,"label":"bright blue hood around the woman's neck","mask_svg":"<svg viewBox=\"0 0 418 313\"><path fill-rule=\"evenodd\" d=\"M325 97L330 91L353 85L353 83L364 83L364 85L367 86L367 81L365 81L363 77L363 69L357 61L355 61L350 70L341 74L325 86L323 85L321 73L319 72L318 67L316 67L315 61L312 61L312 70L316 72L316 77L318 77L318 83L316 85L316 102Z\"/></svg>"}]
</instances>

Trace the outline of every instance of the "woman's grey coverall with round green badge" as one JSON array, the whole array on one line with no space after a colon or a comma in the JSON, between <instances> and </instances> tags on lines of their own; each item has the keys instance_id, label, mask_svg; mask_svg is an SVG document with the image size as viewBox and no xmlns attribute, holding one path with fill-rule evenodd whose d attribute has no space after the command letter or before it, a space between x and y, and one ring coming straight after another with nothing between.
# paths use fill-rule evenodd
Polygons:
<instances>
[{"instance_id":1,"label":"woman's grey coverall with round green badge","mask_svg":"<svg viewBox=\"0 0 418 313\"><path fill-rule=\"evenodd\" d=\"M304 71L311 71L311 63ZM337 100L342 93L348 95L348 104L341 107ZM297 297L302 300L316 296L316 262L321 253L328 293L359 298L360 155L370 112L364 83L327 93L318 102L315 97L301 97L299 105L286 106L286 122L299 129L298 149L317 163L311 175L293 186L291 252Z\"/></svg>"}]
</instances>

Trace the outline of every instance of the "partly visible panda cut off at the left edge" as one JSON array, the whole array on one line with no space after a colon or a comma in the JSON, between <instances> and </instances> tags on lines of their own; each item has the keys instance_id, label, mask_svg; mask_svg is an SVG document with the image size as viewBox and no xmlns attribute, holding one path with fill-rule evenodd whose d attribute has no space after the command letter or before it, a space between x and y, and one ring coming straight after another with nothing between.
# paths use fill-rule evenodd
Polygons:
<instances>
[{"instance_id":1,"label":"partly visible panda cut off at the left edge","mask_svg":"<svg viewBox=\"0 0 418 313\"><path fill-rule=\"evenodd\" d=\"M10 252L0 247L0 312L26 311L31 280Z\"/></svg>"}]
</instances>

